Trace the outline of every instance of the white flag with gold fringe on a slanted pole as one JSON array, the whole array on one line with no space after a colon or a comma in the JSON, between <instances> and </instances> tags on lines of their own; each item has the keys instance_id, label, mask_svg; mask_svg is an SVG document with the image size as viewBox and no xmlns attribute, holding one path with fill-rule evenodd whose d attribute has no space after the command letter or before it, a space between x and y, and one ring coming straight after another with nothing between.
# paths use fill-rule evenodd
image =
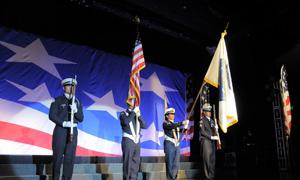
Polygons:
<instances>
[{"instance_id":1,"label":"white flag with gold fringe on a slanted pole","mask_svg":"<svg viewBox=\"0 0 300 180\"><path fill-rule=\"evenodd\" d=\"M222 33L218 47L204 77L204 81L219 88L219 125L224 133L238 122L225 37Z\"/></svg>"}]
</instances>

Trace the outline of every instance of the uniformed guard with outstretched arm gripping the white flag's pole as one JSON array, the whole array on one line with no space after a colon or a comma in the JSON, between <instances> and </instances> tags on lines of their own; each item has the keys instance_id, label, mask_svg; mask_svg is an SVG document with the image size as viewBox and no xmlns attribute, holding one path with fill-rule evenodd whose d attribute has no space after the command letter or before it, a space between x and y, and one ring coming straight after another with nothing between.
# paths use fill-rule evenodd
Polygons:
<instances>
[{"instance_id":1,"label":"uniformed guard with outstretched arm gripping the white flag's pole","mask_svg":"<svg viewBox=\"0 0 300 180\"><path fill-rule=\"evenodd\" d=\"M189 120L174 122L175 109L168 108L165 112L163 129L165 133L164 152L167 180L176 179L180 161L180 133L187 129ZM184 125L184 128L180 127Z\"/></svg>"}]
</instances>

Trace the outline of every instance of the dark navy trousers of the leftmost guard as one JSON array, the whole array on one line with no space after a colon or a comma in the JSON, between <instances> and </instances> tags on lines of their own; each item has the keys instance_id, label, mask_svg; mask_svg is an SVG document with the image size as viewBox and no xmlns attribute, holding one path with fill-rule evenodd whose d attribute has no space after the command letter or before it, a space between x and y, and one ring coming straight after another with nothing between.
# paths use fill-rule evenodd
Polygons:
<instances>
[{"instance_id":1,"label":"dark navy trousers of the leftmost guard","mask_svg":"<svg viewBox=\"0 0 300 180\"><path fill-rule=\"evenodd\" d=\"M75 152L77 146L77 128L74 128L73 140L68 142L69 130L62 127L55 127L53 132L53 180L59 180L60 168L63 161L63 180L72 179Z\"/></svg>"}]
</instances>

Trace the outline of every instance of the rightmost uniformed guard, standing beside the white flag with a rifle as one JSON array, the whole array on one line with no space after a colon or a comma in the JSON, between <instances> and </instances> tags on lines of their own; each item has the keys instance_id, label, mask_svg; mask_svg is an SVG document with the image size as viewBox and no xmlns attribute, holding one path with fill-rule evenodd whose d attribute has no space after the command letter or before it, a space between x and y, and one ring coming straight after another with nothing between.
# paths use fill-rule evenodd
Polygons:
<instances>
[{"instance_id":1,"label":"rightmost uniformed guard, standing beside the white flag with a rifle","mask_svg":"<svg viewBox=\"0 0 300 180\"><path fill-rule=\"evenodd\" d=\"M202 107L203 117L200 120L200 153L203 162L203 172L206 179L214 179L216 162L216 140L213 136L215 123L211 119L211 105L205 103Z\"/></svg>"}]
</instances>

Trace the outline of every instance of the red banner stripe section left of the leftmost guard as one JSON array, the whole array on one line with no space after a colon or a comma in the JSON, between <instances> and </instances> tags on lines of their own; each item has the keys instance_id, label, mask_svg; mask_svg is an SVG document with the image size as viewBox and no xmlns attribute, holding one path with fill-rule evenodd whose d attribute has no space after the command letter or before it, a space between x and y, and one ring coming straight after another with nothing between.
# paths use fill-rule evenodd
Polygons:
<instances>
[{"instance_id":1,"label":"red banner stripe section left of the leftmost guard","mask_svg":"<svg viewBox=\"0 0 300 180\"><path fill-rule=\"evenodd\" d=\"M0 139L52 149L52 135L3 121L0 121Z\"/></svg>"}]
</instances>

